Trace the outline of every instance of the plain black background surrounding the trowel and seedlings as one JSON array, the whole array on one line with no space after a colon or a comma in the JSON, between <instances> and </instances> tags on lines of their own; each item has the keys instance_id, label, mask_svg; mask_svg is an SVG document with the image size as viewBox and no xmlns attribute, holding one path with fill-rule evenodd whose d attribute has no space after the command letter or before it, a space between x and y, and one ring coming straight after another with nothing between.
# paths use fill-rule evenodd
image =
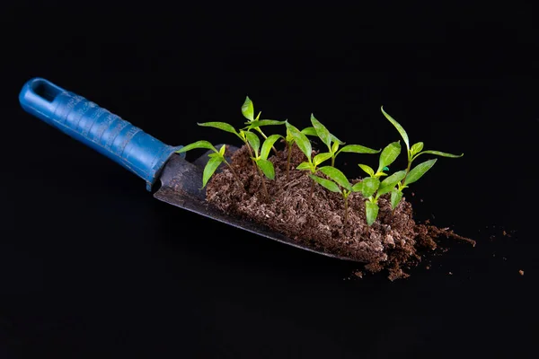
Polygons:
<instances>
[{"instance_id":1,"label":"plain black background surrounding the trowel and seedlings","mask_svg":"<svg viewBox=\"0 0 539 359\"><path fill-rule=\"evenodd\" d=\"M536 357L533 12L312 6L4 8L1 358ZM196 122L240 126L249 95L264 117L306 127L314 112L381 147L399 139L384 105L412 143L464 152L408 199L478 244L406 280L351 279L358 265L155 200L20 108L34 76L167 144L237 144ZM358 156L342 161L358 173Z\"/></svg>"}]
</instances>

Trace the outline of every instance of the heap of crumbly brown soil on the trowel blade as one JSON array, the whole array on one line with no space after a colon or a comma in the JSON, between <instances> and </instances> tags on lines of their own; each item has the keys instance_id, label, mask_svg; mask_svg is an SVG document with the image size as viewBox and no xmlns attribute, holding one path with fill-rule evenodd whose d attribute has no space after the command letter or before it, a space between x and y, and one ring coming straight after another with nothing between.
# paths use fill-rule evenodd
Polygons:
<instances>
[{"instance_id":1,"label":"heap of crumbly brown soil on the trowel blade","mask_svg":"<svg viewBox=\"0 0 539 359\"><path fill-rule=\"evenodd\" d=\"M344 202L340 194L316 185L309 204L311 179L305 171L296 170L304 160L305 155L294 146L287 181L286 151L270 157L276 177L275 180L265 179L270 194L270 201L266 201L262 196L261 177L254 170L248 150L243 146L234 153L231 163L245 190L234 183L234 175L224 168L208 182L208 202L226 213L268 225L315 250L366 263L365 267L370 272L387 268L391 280L409 276L402 268L419 264L420 251L435 250L435 239L439 236L474 244L474 241L448 229L416 223L412 218L411 204L405 198L392 214L388 197L380 197L378 218L368 227L365 199L359 193L353 193L349 197L349 217L345 224ZM323 176L320 172L318 175Z\"/></svg>"}]
</instances>

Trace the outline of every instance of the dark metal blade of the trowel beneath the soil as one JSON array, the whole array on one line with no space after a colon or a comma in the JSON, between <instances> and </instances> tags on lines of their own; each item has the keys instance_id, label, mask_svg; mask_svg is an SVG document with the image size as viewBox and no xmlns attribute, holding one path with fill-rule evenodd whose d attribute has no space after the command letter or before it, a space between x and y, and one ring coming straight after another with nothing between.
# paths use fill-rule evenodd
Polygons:
<instances>
[{"instance_id":1,"label":"dark metal blade of the trowel beneath the soil","mask_svg":"<svg viewBox=\"0 0 539 359\"><path fill-rule=\"evenodd\" d=\"M219 148L220 145L217 145L216 147ZM235 150L237 150L237 147L230 145L227 153L234 153ZM205 217L222 223L230 224L236 228L241 228L245 231L269 238L270 240L279 241L302 250L309 250L331 258L354 260L307 247L304 244L287 238L282 233L271 230L265 225L249 221L248 219L239 216L225 214L223 211L209 204L206 201L206 190L200 189L202 186L202 172L204 166L208 162L207 154L208 153L205 153L200 156L194 162L188 162L176 154L172 155L161 174L162 186L155 192L154 197L171 204L172 206L178 206L190 212L204 215Z\"/></svg>"}]
</instances>

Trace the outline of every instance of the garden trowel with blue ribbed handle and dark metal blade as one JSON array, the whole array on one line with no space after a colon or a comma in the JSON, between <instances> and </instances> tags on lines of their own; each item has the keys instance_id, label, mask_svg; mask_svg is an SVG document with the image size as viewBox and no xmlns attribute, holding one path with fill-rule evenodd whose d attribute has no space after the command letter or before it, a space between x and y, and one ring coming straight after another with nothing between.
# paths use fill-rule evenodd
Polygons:
<instances>
[{"instance_id":1,"label":"garden trowel with blue ribbed handle and dark metal blade","mask_svg":"<svg viewBox=\"0 0 539 359\"><path fill-rule=\"evenodd\" d=\"M43 78L33 78L25 83L19 94L19 101L22 109L31 115L92 147L146 180L148 191L160 180L161 188L155 192L154 197L163 202L302 250L349 259L306 247L264 225L227 215L208 204L206 190L200 188L202 171L208 162L207 154L194 162L188 162L185 160L185 153L176 153L181 149L181 145L163 144L107 109L102 109L92 101ZM237 148L228 146L228 153L234 152L235 149Z\"/></svg>"}]
</instances>

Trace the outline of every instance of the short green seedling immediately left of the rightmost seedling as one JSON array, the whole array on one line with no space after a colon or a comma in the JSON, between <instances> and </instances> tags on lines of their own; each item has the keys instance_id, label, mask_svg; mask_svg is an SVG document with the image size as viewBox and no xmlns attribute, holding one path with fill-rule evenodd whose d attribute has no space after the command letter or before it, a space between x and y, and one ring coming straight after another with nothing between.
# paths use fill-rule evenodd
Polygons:
<instances>
[{"instance_id":1,"label":"short green seedling immediately left of the rightmost seedling","mask_svg":"<svg viewBox=\"0 0 539 359\"><path fill-rule=\"evenodd\" d=\"M395 172L380 182L380 177L387 176L387 174L384 173L384 170L397 159L400 153L401 142L393 142L385 146L384 151L380 154L378 170L376 172L371 167L367 166L367 164L358 164L358 166L369 175L369 177L357 184L358 191L361 192L363 197L367 198L365 201L365 215L367 217L367 225L369 226L375 223L376 217L378 216L378 198L392 191L397 183L406 175L405 171Z\"/></svg>"}]
</instances>

